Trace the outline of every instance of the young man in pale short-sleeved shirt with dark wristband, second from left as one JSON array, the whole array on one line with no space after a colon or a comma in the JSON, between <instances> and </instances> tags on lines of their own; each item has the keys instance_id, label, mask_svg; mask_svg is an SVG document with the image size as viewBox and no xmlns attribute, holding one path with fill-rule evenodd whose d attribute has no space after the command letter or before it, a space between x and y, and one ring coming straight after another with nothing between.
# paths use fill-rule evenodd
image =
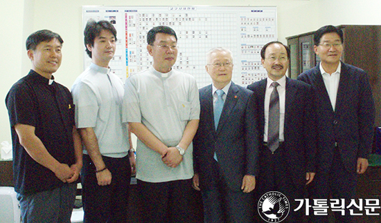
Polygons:
<instances>
[{"instance_id":1,"label":"young man in pale short-sleeved shirt with dark wristband, second from left","mask_svg":"<svg viewBox=\"0 0 381 223\"><path fill-rule=\"evenodd\" d=\"M85 46L91 65L72 88L76 126L83 151L84 222L127 222L127 202L134 153L127 124L122 123L123 83L109 68L116 30L109 21L89 20ZM131 166L130 166L131 165Z\"/></svg>"}]
</instances>

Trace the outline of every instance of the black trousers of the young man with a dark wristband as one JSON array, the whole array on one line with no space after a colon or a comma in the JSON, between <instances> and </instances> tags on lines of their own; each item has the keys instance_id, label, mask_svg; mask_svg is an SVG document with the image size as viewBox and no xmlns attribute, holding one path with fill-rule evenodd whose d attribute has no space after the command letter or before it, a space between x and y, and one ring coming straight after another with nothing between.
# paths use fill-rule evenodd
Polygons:
<instances>
[{"instance_id":1,"label":"black trousers of the young man with a dark wristband","mask_svg":"<svg viewBox=\"0 0 381 223\"><path fill-rule=\"evenodd\" d=\"M131 180L131 166L128 156L112 158L103 156L112 173L112 182L99 186L96 168L89 155L83 155L82 202L85 223L127 222L127 204Z\"/></svg>"}]
</instances>

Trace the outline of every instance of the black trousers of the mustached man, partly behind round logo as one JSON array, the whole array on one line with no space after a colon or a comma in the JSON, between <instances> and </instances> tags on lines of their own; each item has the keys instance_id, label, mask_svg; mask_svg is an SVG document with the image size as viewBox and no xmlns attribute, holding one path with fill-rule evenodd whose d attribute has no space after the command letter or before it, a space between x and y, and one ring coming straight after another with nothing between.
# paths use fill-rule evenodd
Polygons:
<instances>
[{"instance_id":1,"label":"black trousers of the mustached man, partly behind round logo","mask_svg":"<svg viewBox=\"0 0 381 223\"><path fill-rule=\"evenodd\" d=\"M294 212L299 206L299 202L295 199L303 199L305 197L305 186L296 184L287 164L287 150L284 144L278 149L272 151L263 146L260 151L260 174L257 181L258 189L256 190L256 210L258 210L258 200L262 195L269 191L278 191L283 193L290 202L290 213L283 222L303 222L303 211ZM305 177L305 173L300 173ZM260 217L256 217L256 222L262 222Z\"/></svg>"}]
</instances>

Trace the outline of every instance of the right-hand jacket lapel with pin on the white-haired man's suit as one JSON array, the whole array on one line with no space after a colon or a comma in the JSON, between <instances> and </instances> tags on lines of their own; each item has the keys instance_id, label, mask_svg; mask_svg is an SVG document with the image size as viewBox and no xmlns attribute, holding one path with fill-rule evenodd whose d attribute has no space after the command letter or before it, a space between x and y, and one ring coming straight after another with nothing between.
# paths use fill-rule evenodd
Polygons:
<instances>
[{"instance_id":1,"label":"right-hand jacket lapel with pin on the white-haired man's suit","mask_svg":"<svg viewBox=\"0 0 381 223\"><path fill-rule=\"evenodd\" d=\"M217 133L220 132L224 124L227 122L227 119L229 118L229 115L233 111L234 106L236 106L237 101L238 101L238 87L236 86L236 84L231 82L231 86L227 93L227 98L225 99L225 102L224 102L224 108L222 109L220 123L218 124L218 128L217 128Z\"/></svg>"}]
</instances>

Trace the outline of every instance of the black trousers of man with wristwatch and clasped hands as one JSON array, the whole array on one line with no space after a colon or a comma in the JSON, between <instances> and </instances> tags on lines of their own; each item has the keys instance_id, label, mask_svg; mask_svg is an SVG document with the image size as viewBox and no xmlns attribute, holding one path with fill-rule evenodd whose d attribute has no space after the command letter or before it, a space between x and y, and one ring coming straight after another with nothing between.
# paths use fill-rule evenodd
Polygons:
<instances>
[{"instance_id":1,"label":"black trousers of man with wristwatch and clasped hands","mask_svg":"<svg viewBox=\"0 0 381 223\"><path fill-rule=\"evenodd\" d=\"M192 179L159 183L137 180L137 187L139 222L197 222L191 205Z\"/></svg>"}]
</instances>

